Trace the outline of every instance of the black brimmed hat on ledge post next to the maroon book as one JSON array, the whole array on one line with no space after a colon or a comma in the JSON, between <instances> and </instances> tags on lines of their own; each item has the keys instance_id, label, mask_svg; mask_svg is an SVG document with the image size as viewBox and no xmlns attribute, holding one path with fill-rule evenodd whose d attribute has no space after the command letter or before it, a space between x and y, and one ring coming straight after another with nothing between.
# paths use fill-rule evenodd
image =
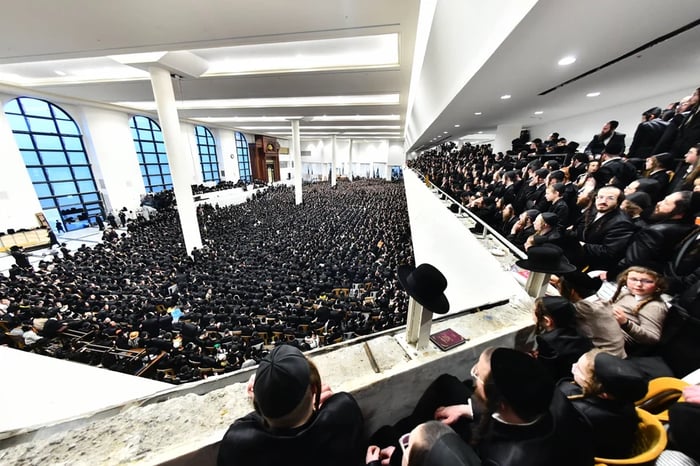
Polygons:
<instances>
[{"instance_id":1,"label":"black brimmed hat on ledge post next to the maroon book","mask_svg":"<svg viewBox=\"0 0 700 466\"><path fill-rule=\"evenodd\" d=\"M450 310L450 303L443 293L447 288L447 279L434 266L421 264L413 268L402 265L397 274L409 296L427 310L438 314L446 314Z\"/></svg>"}]
</instances>

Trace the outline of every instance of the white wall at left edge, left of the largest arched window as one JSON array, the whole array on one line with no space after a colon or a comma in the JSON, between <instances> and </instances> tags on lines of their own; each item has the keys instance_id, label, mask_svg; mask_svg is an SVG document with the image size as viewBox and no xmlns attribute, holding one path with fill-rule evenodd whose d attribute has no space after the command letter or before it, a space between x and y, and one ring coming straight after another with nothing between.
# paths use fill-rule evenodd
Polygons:
<instances>
[{"instance_id":1,"label":"white wall at left edge, left of the largest arched window","mask_svg":"<svg viewBox=\"0 0 700 466\"><path fill-rule=\"evenodd\" d=\"M0 95L3 109L14 98L15 96ZM41 204L4 111L0 112L0 154L0 231L38 227L35 214L41 212Z\"/></svg>"}]
</instances>

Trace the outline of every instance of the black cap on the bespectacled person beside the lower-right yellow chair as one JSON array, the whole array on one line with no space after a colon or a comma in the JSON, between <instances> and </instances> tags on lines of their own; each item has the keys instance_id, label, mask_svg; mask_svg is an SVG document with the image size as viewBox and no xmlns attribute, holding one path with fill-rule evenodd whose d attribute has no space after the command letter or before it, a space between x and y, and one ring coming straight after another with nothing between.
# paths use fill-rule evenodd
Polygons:
<instances>
[{"instance_id":1,"label":"black cap on the bespectacled person beside the lower-right yellow chair","mask_svg":"<svg viewBox=\"0 0 700 466\"><path fill-rule=\"evenodd\" d=\"M646 395L649 383L629 361L608 353L598 353L593 361L595 376L603 391L622 401L637 401Z\"/></svg>"}]
</instances>

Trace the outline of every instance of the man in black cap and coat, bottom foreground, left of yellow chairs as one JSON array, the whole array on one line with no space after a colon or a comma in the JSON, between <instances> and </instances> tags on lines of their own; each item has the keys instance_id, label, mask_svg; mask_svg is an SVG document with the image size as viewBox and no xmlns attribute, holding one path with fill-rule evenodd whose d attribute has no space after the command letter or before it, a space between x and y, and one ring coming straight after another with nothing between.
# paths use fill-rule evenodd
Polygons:
<instances>
[{"instance_id":1,"label":"man in black cap and coat, bottom foreground, left of yellow chairs","mask_svg":"<svg viewBox=\"0 0 700 466\"><path fill-rule=\"evenodd\" d=\"M480 359L475 371L475 393L483 391L489 407L477 446L484 464L593 464L590 426L571 402L554 390L549 374L537 360L497 348L489 366L487 369Z\"/></svg>"}]
</instances>

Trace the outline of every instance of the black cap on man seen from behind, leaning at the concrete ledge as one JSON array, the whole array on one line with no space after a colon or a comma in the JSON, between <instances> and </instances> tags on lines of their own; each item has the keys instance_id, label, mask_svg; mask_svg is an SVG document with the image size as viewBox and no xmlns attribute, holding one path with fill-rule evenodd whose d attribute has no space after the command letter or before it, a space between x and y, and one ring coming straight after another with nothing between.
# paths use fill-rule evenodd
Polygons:
<instances>
[{"instance_id":1,"label":"black cap on man seen from behind, leaning at the concrete ledge","mask_svg":"<svg viewBox=\"0 0 700 466\"><path fill-rule=\"evenodd\" d=\"M278 346L255 373L255 402L265 417L279 418L296 408L309 387L310 369L304 354L290 345Z\"/></svg>"}]
</instances>

